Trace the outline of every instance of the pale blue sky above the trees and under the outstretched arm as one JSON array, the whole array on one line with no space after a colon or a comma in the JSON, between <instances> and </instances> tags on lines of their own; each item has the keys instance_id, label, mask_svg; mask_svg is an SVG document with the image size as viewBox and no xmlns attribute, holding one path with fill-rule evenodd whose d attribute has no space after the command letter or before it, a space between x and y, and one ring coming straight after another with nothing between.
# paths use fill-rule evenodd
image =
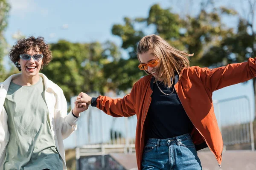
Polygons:
<instances>
[{"instance_id":1,"label":"pale blue sky above the trees and under the outstretched arm","mask_svg":"<svg viewBox=\"0 0 256 170\"><path fill-rule=\"evenodd\" d=\"M193 13L198 4L191 0L9 0L12 6L5 37L9 45L15 40L13 35L20 31L23 35L42 36L47 42L59 39L71 42L105 42L111 40L121 45L119 37L111 34L111 27L123 23L124 17L146 17L149 8L160 3L162 7L172 7L174 11L185 15ZM188 3L190 2L190 3ZM221 2L218 1L217 2ZM226 1L229 6L235 1ZM229 20L228 25L234 26L235 21ZM5 62L9 62L8 58ZM7 64L7 63L6 63ZM246 95L250 99L253 112L253 85L233 85L214 92L213 99L226 99Z\"/></svg>"}]
</instances>

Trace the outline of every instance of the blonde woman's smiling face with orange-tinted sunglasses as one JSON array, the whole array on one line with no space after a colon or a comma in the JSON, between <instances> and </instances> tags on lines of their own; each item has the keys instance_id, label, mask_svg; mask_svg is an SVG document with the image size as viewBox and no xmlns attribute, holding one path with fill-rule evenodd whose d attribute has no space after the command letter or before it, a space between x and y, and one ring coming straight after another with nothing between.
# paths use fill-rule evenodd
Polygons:
<instances>
[{"instance_id":1,"label":"blonde woman's smiling face with orange-tinted sunglasses","mask_svg":"<svg viewBox=\"0 0 256 170\"><path fill-rule=\"evenodd\" d=\"M158 61L157 57L154 56L154 54L151 50L148 50L147 52L145 52L143 54L139 54L139 59L140 59L141 64L148 64L148 62L152 62L154 60ZM160 69L159 62L154 67L150 67L149 65L147 65L147 68L145 69L145 71L148 71L148 73L152 74L156 78L157 78L157 75L158 75L158 77L160 77L162 74L162 70Z\"/></svg>"}]
</instances>

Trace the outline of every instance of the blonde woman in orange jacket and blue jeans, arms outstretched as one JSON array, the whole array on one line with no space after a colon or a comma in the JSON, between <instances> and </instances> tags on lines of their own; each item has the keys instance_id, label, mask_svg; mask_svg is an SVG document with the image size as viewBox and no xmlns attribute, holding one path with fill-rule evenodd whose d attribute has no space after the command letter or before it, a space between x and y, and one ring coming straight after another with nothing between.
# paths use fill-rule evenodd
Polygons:
<instances>
[{"instance_id":1,"label":"blonde woman in orange jacket and blue jeans, arms outstretched","mask_svg":"<svg viewBox=\"0 0 256 170\"><path fill-rule=\"evenodd\" d=\"M114 116L137 115L139 170L201 170L197 150L209 147L219 166L223 141L212 92L256 77L256 59L209 69L189 67L187 54L157 35L137 46L140 70L147 76L122 99L80 93L77 105L91 104Z\"/></svg>"}]
</instances>

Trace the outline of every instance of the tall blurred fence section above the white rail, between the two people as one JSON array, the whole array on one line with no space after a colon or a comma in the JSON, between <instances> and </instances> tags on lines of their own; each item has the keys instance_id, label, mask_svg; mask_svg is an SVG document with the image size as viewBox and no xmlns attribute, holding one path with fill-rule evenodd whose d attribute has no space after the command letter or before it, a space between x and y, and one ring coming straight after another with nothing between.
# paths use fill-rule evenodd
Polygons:
<instances>
[{"instance_id":1,"label":"tall blurred fence section above the white rail, between the two people","mask_svg":"<svg viewBox=\"0 0 256 170\"><path fill-rule=\"evenodd\" d=\"M134 144L137 117L112 117L89 107L77 122L76 144Z\"/></svg>"}]
</instances>

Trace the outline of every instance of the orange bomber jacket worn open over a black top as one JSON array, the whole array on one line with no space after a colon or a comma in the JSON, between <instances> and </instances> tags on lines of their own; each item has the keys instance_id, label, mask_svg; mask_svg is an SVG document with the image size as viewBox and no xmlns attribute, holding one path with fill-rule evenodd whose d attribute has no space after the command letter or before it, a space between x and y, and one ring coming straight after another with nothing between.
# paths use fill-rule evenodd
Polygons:
<instances>
[{"instance_id":1,"label":"orange bomber jacket worn open over a black top","mask_svg":"<svg viewBox=\"0 0 256 170\"><path fill-rule=\"evenodd\" d=\"M198 66L184 68L175 84L180 102L194 125L191 135L196 149L208 146L219 165L222 161L223 140L213 109L212 92L253 77L256 77L256 58L249 58L247 62L214 69ZM146 142L145 118L153 93L151 78L151 75L141 78L134 84L130 94L123 98L99 96L96 105L113 117L137 115L135 150L139 170Z\"/></svg>"}]
</instances>

